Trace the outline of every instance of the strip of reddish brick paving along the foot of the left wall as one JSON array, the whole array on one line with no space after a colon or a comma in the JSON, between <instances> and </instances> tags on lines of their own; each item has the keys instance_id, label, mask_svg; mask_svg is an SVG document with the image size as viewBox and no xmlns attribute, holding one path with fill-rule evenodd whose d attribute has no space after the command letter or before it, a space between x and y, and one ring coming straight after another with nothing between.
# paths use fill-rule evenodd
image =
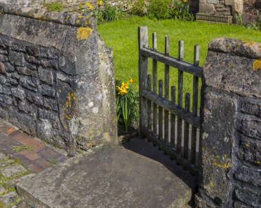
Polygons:
<instances>
[{"instance_id":1,"label":"strip of reddish brick paving along the foot of the left wall","mask_svg":"<svg viewBox=\"0 0 261 208\"><path fill-rule=\"evenodd\" d=\"M54 165L49 160L60 163L65 162L69 158L56 152L55 148L50 148L38 140L16 130L11 124L0 125L0 152L19 159L24 167L32 172L42 172L47 167ZM32 150L23 150L22 152L12 150L14 146L21 145L32 147Z\"/></svg>"}]
</instances>

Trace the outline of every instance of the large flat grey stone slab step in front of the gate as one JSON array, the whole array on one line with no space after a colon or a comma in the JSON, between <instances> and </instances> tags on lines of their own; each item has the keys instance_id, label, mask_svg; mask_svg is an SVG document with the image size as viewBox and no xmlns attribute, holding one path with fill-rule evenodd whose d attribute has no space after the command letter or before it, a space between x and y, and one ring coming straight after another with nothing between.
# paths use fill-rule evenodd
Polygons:
<instances>
[{"instance_id":1,"label":"large flat grey stone slab step in front of the gate","mask_svg":"<svg viewBox=\"0 0 261 208\"><path fill-rule=\"evenodd\" d=\"M16 188L27 207L179 208L193 197L197 181L173 167L106 143L28 176Z\"/></svg>"}]
</instances>

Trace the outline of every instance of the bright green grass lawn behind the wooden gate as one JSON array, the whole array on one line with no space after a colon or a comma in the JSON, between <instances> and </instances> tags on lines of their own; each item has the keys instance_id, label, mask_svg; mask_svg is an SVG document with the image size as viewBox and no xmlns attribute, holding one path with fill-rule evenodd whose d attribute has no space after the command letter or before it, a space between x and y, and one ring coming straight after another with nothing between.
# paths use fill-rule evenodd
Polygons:
<instances>
[{"instance_id":1,"label":"bright green grass lawn behind the wooden gate","mask_svg":"<svg viewBox=\"0 0 261 208\"><path fill-rule=\"evenodd\" d=\"M152 46L152 32L157 32L158 50L164 51L165 35L170 37L170 56L178 56L178 41L184 41L184 60L193 62L194 45L200 45L200 65L207 56L209 41L218 37L238 38L261 42L261 32L245 27L227 24L212 24L176 20L152 21L148 18L132 17L98 25L98 32L106 45L113 49L115 78L138 81L137 27L148 26L149 45ZM151 69L150 62L150 69ZM177 86L177 70L170 69L170 83ZM163 79L164 68L159 65L159 79ZM192 76L184 76L184 93L192 92ZM138 84L135 84L138 90Z\"/></svg>"}]
</instances>

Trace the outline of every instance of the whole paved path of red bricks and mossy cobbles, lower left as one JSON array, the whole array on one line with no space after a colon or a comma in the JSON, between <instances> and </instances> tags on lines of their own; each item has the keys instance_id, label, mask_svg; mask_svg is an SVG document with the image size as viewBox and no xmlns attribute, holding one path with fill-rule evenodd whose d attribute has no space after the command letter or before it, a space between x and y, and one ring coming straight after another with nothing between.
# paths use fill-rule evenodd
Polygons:
<instances>
[{"instance_id":1,"label":"whole paved path of red bricks and mossy cobbles, lower left","mask_svg":"<svg viewBox=\"0 0 261 208\"><path fill-rule=\"evenodd\" d=\"M16 207L20 198L15 185L22 176L64 162L69 158L66 155L0 119L0 208Z\"/></svg>"}]
</instances>

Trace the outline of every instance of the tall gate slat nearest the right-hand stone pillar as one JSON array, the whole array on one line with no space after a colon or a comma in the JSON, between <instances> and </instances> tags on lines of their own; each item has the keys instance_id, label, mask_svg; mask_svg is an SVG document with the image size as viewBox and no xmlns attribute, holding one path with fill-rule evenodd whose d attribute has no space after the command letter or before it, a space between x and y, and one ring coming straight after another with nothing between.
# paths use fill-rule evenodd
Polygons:
<instances>
[{"instance_id":1,"label":"tall gate slat nearest the right-hand stone pillar","mask_svg":"<svg viewBox=\"0 0 261 208\"><path fill-rule=\"evenodd\" d=\"M199 65L199 46L194 46L194 66ZM198 77L193 76L193 100L192 100L192 115L198 114ZM191 134L191 157L190 162L196 162L196 127L192 126Z\"/></svg>"}]
</instances>

